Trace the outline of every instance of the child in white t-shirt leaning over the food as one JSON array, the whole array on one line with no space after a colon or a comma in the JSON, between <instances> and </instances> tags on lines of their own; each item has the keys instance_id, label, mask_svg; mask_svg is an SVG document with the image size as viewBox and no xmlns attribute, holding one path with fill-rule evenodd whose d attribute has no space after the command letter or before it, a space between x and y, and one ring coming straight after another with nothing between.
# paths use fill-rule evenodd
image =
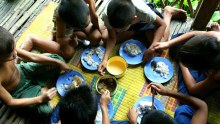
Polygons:
<instances>
[{"instance_id":1,"label":"child in white t-shirt leaning over the food","mask_svg":"<svg viewBox=\"0 0 220 124\"><path fill-rule=\"evenodd\" d=\"M150 60L155 55L153 45L160 42L162 37L162 41L168 40L171 19L185 21L187 16L185 11L167 6L164 9L164 19L161 17L162 15L152 5L148 6L142 0L111 0L102 15L109 37L98 71L103 74L116 41L130 39L140 31L144 32L151 44L144 53L143 63Z\"/></svg>"}]
</instances>

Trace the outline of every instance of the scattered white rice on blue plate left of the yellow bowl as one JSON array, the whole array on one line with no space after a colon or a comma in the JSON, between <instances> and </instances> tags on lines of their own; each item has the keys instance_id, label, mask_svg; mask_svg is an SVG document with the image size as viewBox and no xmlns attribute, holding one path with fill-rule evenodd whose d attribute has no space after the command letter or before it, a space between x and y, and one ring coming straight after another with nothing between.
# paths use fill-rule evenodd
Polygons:
<instances>
[{"instance_id":1,"label":"scattered white rice on blue plate left of the yellow bowl","mask_svg":"<svg viewBox=\"0 0 220 124\"><path fill-rule=\"evenodd\" d=\"M100 47L91 48L86 51L86 56L83 57L83 61L85 61L89 66L98 67L99 63L93 59L93 55L97 55L101 61L104 57L104 51L102 51Z\"/></svg>"}]
</instances>

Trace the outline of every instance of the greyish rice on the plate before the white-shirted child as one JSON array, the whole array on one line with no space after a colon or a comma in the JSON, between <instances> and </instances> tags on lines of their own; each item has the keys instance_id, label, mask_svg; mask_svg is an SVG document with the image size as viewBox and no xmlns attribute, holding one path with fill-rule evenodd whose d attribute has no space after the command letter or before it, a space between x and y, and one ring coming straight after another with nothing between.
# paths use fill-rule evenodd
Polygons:
<instances>
[{"instance_id":1,"label":"greyish rice on the plate before the white-shirted child","mask_svg":"<svg viewBox=\"0 0 220 124\"><path fill-rule=\"evenodd\" d=\"M131 56L136 56L138 54L141 54L141 48L134 43L125 44L124 51Z\"/></svg>"}]
</instances>

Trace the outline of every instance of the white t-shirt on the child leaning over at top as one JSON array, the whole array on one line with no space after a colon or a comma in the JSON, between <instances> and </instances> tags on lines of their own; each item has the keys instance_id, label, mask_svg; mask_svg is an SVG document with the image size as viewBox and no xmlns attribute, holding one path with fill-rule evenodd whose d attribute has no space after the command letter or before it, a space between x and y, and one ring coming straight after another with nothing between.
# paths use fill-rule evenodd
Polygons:
<instances>
[{"instance_id":1,"label":"white t-shirt on the child leaning over at top","mask_svg":"<svg viewBox=\"0 0 220 124\"><path fill-rule=\"evenodd\" d=\"M151 8L142 0L131 0L135 6L137 20L136 22L146 22L146 23L153 23L156 20L156 13L151 10ZM102 14L102 20L105 23L105 26L109 29L112 26L109 24L108 16L107 16L107 8L108 5L105 7L105 10Z\"/></svg>"}]
</instances>

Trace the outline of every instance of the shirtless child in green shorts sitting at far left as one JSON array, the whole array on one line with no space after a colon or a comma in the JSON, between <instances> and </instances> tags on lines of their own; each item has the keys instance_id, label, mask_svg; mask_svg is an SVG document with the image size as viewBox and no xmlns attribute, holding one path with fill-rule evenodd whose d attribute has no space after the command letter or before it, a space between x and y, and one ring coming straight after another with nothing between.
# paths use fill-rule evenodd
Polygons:
<instances>
[{"instance_id":1,"label":"shirtless child in green shorts sitting at far left","mask_svg":"<svg viewBox=\"0 0 220 124\"><path fill-rule=\"evenodd\" d=\"M16 48L13 35L3 27L0 32L1 101L9 107L23 107L48 116L53 107L49 101L57 90L47 89L46 82L57 76L60 69L70 68L58 55L34 54ZM15 64L17 56L30 62Z\"/></svg>"}]
</instances>

